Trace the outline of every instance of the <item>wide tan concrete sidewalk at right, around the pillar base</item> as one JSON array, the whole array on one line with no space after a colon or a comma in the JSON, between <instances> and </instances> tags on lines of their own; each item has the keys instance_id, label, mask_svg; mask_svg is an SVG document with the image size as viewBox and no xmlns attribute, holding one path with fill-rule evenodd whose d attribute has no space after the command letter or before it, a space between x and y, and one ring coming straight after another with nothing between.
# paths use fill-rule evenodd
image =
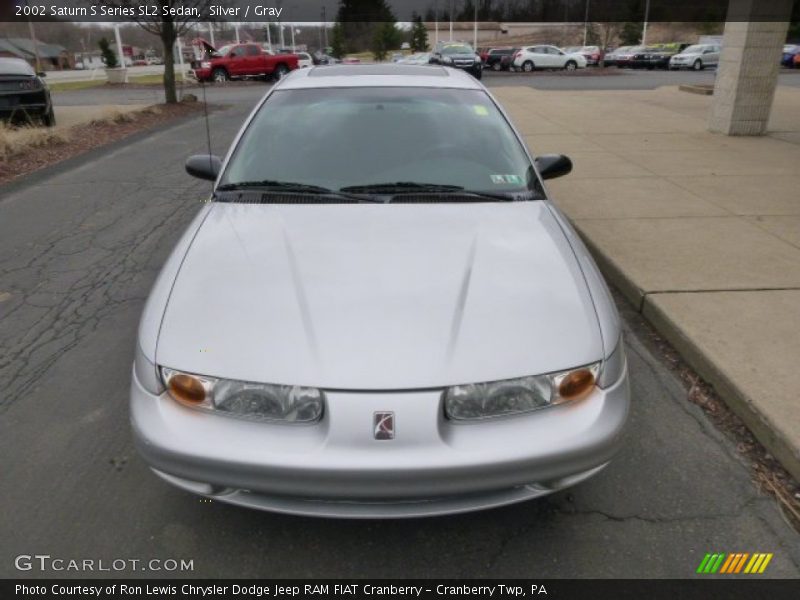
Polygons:
<instances>
[{"instance_id":1,"label":"wide tan concrete sidewalk at right, around the pillar base","mask_svg":"<svg viewBox=\"0 0 800 600\"><path fill-rule=\"evenodd\" d=\"M800 479L800 89L770 135L708 133L711 98L677 88L495 88L606 277Z\"/></svg>"}]
</instances>

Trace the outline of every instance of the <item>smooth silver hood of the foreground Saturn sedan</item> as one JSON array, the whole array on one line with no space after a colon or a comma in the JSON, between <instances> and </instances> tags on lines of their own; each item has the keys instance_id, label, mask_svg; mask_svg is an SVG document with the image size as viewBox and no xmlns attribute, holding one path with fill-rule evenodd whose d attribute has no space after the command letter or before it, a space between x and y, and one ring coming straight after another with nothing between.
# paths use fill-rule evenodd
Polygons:
<instances>
[{"instance_id":1,"label":"smooth silver hood of the foreground Saturn sedan","mask_svg":"<svg viewBox=\"0 0 800 600\"><path fill-rule=\"evenodd\" d=\"M430 388L599 360L543 201L216 204L164 313L160 365L338 389Z\"/></svg>"}]
</instances>

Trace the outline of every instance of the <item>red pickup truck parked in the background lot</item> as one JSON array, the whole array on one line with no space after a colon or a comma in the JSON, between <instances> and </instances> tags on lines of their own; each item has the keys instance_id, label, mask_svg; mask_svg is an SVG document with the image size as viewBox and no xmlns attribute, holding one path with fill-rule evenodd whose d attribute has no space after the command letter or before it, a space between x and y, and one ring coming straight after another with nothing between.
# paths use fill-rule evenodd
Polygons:
<instances>
[{"instance_id":1,"label":"red pickup truck parked in the background lot","mask_svg":"<svg viewBox=\"0 0 800 600\"><path fill-rule=\"evenodd\" d=\"M210 49L192 64L198 81L228 81L244 77L280 79L297 68L295 54L269 54L258 44L231 44Z\"/></svg>"}]
</instances>

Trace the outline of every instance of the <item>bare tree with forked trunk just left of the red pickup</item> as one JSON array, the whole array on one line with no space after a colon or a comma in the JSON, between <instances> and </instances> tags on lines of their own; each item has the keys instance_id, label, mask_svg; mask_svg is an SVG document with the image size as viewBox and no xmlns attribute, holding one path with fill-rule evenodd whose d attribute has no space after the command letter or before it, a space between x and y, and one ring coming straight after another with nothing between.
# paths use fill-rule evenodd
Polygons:
<instances>
[{"instance_id":1,"label":"bare tree with forked trunk just left of the red pickup","mask_svg":"<svg viewBox=\"0 0 800 600\"><path fill-rule=\"evenodd\" d=\"M147 2L143 0L107 0L106 4L137 9L135 11L137 16L131 17L131 19L139 27L161 39L164 53L164 96L167 104L174 104L178 101L178 93L175 89L175 42L179 36L192 27L193 23L207 20L204 15L208 14L211 5L224 6L229 2L227 0L148 0ZM138 14L139 6L157 6L158 11L154 12L158 14L141 16Z\"/></svg>"}]
</instances>

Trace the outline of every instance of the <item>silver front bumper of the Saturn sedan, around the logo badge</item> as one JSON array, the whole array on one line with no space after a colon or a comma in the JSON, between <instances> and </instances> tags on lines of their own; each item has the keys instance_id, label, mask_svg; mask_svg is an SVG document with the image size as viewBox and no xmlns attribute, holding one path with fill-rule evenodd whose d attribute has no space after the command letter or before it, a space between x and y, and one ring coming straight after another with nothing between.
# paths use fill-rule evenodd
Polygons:
<instances>
[{"instance_id":1,"label":"silver front bumper of the Saturn sedan, around the logo badge","mask_svg":"<svg viewBox=\"0 0 800 600\"><path fill-rule=\"evenodd\" d=\"M629 406L627 370L586 399L478 422L444 417L441 391L327 392L311 425L248 421L185 408L144 390L131 420L153 469L189 491L255 508L335 517L416 517L542 496L604 467ZM372 435L394 411L394 440Z\"/></svg>"}]
</instances>

